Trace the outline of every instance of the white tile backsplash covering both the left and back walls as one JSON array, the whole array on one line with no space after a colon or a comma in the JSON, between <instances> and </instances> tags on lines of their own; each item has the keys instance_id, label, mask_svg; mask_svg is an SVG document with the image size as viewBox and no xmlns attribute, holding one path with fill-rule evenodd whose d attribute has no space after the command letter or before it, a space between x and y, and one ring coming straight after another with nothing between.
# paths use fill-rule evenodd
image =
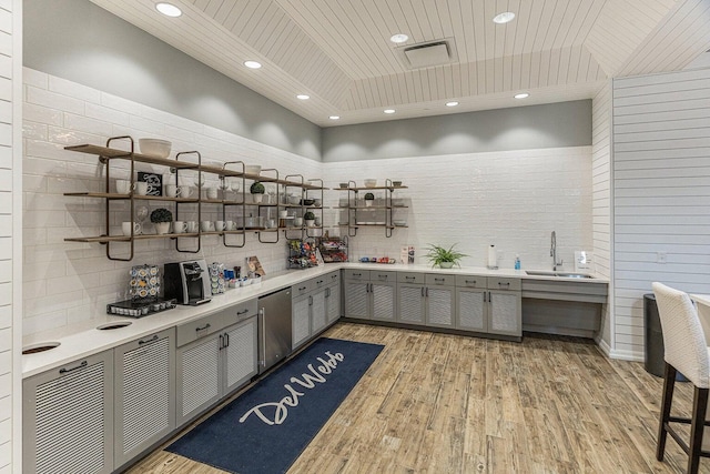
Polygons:
<instances>
[{"instance_id":1,"label":"white tile backsplash covering both the left and back walls","mask_svg":"<svg viewBox=\"0 0 710 474\"><path fill-rule=\"evenodd\" d=\"M390 239L382 228L358 230L349 241L356 258L398 258L402 245L414 244L417 263L426 263L422 255L427 243L458 243L469 255L465 266L484 266L486 249L493 243L501 266L513 268L519 253L523 268L529 269L548 266L552 230L558 254L569 265L574 250L592 245L590 147L320 163L27 68L23 119L24 334L102 314L106 303L124 297L134 264L197 256L240 265L246 256L257 255L267 273L286 266L283 235L278 244L267 244L248 234L243 249L226 248L216 236L206 236L196 255L176 252L172 240L136 241L132 262L108 260L101 244L65 242L68 236L103 232L103 200L63 193L102 191L105 168L97 157L64 147L104 145L109 137L166 139L173 142L171 157L174 150L199 150L203 163L241 160L275 168L281 177L323 178L327 188L347 180L362 184L366 178L381 183L385 178L402 180L408 189L397 191L395 198L402 198L408 209L397 210L395 219L406 221L408 228L396 229ZM140 171L166 172L150 167ZM112 165L111 178L128 178L129 172L126 163ZM337 206L345 194L326 191L324 205ZM121 222L130 218L123 204L111 206L112 232L118 233ZM160 204L146 205L152 210ZM211 212L209 219L215 220L216 209ZM341 211L324 212L324 224L337 233L335 225L344 219Z\"/></svg>"}]
</instances>

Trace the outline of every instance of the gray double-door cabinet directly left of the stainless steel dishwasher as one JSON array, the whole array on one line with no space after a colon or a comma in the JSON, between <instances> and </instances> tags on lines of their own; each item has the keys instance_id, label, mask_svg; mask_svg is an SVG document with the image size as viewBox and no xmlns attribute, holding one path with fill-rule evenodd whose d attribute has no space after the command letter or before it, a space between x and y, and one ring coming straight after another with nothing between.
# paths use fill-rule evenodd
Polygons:
<instances>
[{"instance_id":1,"label":"gray double-door cabinet directly left of the stainless steel dishwasher","mask_svg":"<svg viewBox=\"0 0 710 474\"><path fill-rule=\"evenodd\" d=\"M178 426L256 374L256 300L250 300L178 326Z\"/></svg>"}]
</instances>

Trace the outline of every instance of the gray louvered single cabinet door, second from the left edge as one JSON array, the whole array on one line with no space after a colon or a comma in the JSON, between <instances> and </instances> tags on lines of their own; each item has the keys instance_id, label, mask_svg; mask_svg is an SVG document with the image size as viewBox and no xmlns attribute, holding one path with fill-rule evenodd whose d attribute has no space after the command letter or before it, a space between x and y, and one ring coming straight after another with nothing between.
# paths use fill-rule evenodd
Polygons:
<instances>
[{"instance_id":1,"label":"gray louvered single cabinet door, second from the left edge","mask_svg":"<svg viewBox=\"0 0 710 474\"><path fill-rule=\"evenodd\" d=\"M175 427L175 329L114 349L113 361L119 468Z\"/></svg>"}]
</instances>

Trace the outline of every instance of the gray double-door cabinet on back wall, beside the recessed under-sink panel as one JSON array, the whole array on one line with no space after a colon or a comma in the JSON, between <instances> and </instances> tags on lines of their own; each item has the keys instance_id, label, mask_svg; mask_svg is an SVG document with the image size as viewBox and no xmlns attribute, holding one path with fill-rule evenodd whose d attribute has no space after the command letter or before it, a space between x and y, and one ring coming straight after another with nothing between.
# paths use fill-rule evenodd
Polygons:
<instances>
[{"instance_id":1,"label":"gray double-door cabinet on back wall, beside the recessed under-sink panel","mask_svg":"<svg viewBox=\"0 0 710 474\"><path fill-rule=\"evenodd\" d=\"M519 279L458 275L456 285L457 329L523 335Z\"/></svg>"}]
</instances>

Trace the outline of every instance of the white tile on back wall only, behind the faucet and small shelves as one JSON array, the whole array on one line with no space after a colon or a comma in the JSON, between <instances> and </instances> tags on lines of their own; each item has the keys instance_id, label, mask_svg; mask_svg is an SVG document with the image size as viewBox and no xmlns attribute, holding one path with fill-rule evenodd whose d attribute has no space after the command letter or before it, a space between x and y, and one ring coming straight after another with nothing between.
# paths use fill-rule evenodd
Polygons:
<instances>
[{"instance_id":1,"label":"white tile on back wall only, behind the faucet and small shelves","mask_svg":"<svg viewBox=\"0 0 710 474\"><path fill-rule=\"evenodd\" d=\"M557 232L559 258L574 268L575 250L592 250L591 148L565 148L426 158L325 163L331 188L354 180L376 178L403 181L408 209L395 210L394 219L407 228L385 239L382 228L361 228L351 239L351 255L394 256L403 245L414 245L416 263L426 264L428 244L466 253L462 265L486 266L488 246L496 245L498 266L513 269L520 255L523 269L550 269L550 234ZM361 191L361 198L363 192ZM375 192L383 198L384 192ZM346 192L331 191L328 203ZM361 221L368 221L361 212ZM332 213L327 224L345 221ZM381 221L382 218L373 218Z\"/></svg>"}]
</instances>

